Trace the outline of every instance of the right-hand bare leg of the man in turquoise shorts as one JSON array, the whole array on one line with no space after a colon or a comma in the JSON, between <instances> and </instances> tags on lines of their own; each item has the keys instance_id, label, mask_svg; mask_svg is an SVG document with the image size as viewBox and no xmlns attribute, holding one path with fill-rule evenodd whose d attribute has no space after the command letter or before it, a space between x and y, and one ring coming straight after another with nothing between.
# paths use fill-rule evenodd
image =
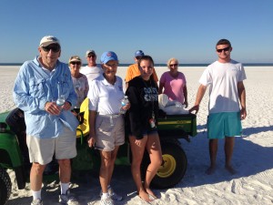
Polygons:
<instances>
[{"instance_id":1,"label":"right-hand bare leg of the man in turquoise shorts","mask_svg":"<svg viewBox=\"0 0 273 205\"><path fill-rule=\"evenodd\" d=\"M226 154L226 166L225 168L231 174L236 174L236 170L231 166L231 159L233 154L235 138L234 137L226 137L225 138L225 154Z\"/></svg>"}]
</instances>

